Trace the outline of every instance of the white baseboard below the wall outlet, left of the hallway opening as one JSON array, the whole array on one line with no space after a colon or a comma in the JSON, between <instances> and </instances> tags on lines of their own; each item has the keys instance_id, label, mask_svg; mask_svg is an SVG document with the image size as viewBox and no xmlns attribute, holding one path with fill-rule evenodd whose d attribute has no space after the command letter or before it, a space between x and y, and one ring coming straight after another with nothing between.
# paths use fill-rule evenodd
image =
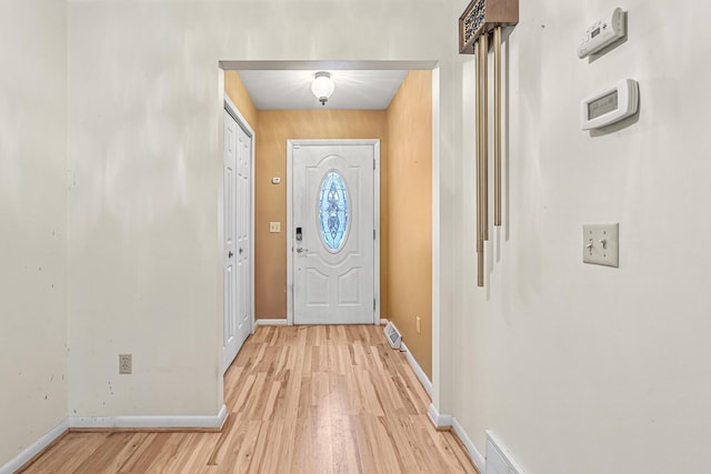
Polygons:
<instances>
[{"instance_id":1,"label":"white baseboard below the wall outlet, left of the hallway opening","mask_svg":"<svg viewBox=\"0 0 711 474\"><path fill-rule=\"evenodd\" d=\"M227 406L216 416L70 416L70 428L221 428Z\"/></svg>"}]
</instances>

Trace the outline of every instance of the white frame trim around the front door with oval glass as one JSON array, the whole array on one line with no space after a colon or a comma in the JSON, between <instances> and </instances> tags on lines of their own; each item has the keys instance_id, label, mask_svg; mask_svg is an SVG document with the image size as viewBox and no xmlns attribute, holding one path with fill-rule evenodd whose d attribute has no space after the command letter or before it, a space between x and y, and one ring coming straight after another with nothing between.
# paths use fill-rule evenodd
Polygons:
<instances>
[{"instance_id":1,"label":"white frame trim around the front door with oval glass","mask_svg":"<svg viewBox=\"0 0 711 474\"><path fill-rule=\"evenodd\" d=\"M301 145L372 145L373 147L373 324L380 324L380 139L287 140L287 324L293 325L293 148Z\"/></svg>"}]
</instances>

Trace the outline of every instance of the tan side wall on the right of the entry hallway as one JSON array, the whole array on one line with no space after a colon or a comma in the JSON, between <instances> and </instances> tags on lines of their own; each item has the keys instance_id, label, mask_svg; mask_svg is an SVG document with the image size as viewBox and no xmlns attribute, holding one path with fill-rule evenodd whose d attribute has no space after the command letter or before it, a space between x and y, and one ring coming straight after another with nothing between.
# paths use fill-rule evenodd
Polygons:
<instances>
[{"instance_id":1,"label":"tan side wall on the right of the entry hallway","mask_svg":"<svg viewBox=\"0 0 711 474\"><path fill-rule=\"evenodd\" d=\"M411 71L387 111L389 319L432 379L432 72ZM420 316L421 332L415 317Z\"/></svg>"}]
</instances>

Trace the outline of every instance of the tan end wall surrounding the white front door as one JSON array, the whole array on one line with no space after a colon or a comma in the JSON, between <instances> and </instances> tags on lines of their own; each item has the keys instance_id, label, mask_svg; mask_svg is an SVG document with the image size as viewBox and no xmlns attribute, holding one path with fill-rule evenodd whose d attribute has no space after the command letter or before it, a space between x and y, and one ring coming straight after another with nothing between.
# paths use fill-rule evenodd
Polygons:
<instances>
[{"instance_id":1,"label":"tan end wall surrounding the white front door","mask_svg":"<svg viewBox=\"0 0 711 474\"><path fill-rule=\"evenodd\" d=\"M380 139L381 314L388 317L388 140L385 111L258 110L254 168L254 313L287 317L287 140ZM280 184L271 179L281 178ZM281 222L280 233L269 223ZM428 289L429 290L429 289Z\"/></svg>"}]
</instances>

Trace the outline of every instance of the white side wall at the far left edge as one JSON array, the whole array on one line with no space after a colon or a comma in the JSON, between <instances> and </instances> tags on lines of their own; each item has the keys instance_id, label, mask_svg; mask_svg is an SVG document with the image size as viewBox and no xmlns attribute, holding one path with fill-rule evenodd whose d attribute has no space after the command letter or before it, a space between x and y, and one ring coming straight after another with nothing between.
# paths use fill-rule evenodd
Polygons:
<instances>
[{"instance_id":1,"label":"white side wall at the far left edge","mask_svg":"<svg viewBox=\"0 0 711 474\"><path fill-rule=\"evenodd\" d=\"M0 466L67 415L63 2L0 2Z\"/></svg>"}]
</instances>

